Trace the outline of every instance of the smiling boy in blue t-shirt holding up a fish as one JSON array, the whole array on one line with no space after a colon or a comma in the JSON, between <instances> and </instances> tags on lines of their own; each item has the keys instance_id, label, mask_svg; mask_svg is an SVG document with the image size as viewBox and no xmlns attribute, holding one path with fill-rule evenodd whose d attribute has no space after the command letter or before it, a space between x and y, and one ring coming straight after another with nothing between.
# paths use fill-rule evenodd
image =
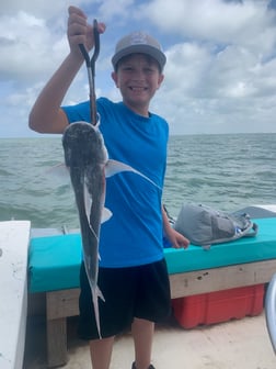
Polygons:
<instances>
[{"instance_id":1,"label":"smiling boy in blue t-shirt holding up a fish","mask_svg":"<svg viewBox=\"0 0 276 369\"><path fill-rule=\"evenodd\" d=\"M103 33L105 25L99 23ZM90 122L89 102L60 108L79 71L83 57L79 44L93 47L93 29L85 14L69 8L70 53L37 98L30 127L41 133L62 133L76 121ZM80 272L79 334L90 340L93 369L108 369L114 336L131 325L135 342L133 369L152 369L151 346L154 322L170 313L170 283L162 249L165 233L174 247L187 247L188 241L175 232L161 205L168 143L168 123L149 112L151 98L163 81L165 55L156 40L134 33L118 42L112 58L112 78L123 102L97 99L108 156L149 177L124 172L106 180L105 204L113 216L101 228L99 287L105 302L99 301L99 339L87 275Z\"/></svg>"}]
</instances>

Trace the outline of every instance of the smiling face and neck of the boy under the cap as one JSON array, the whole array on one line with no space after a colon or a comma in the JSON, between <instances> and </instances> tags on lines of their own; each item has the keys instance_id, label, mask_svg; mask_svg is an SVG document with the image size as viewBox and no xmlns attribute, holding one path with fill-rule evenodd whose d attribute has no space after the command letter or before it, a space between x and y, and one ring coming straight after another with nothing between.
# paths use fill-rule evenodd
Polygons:
<instances>
[{"instance_id":1,"label":"smiling face and neck of the boy under the cap","mask_svg":"<svg viewBox=\"0 0 276 369\"><path fill-rule=\"evenodd\" d=\"M145 54L131 54L119 60L112 78L124 103L136 113L148 116L150 100L164 79L158 63Z\"/></svg>"}]
</instances>

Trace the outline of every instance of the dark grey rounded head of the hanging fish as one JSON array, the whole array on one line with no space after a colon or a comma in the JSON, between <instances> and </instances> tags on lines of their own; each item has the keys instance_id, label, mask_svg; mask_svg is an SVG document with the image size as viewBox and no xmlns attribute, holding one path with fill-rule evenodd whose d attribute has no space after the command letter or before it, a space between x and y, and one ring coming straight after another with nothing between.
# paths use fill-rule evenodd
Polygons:
<instances>
[{"instance_id":1,"label":"dark grey rounded head of the hanging fish","mask_svg":"<svg viewBox=\"0 0 276 369\"><path fill-rule=\"evenodd\" d=\"M62 136L66 166L87 167L94 163L105 165L107 152L99 125L87 122L71 123Z\"/></svg>"}]
</instances>

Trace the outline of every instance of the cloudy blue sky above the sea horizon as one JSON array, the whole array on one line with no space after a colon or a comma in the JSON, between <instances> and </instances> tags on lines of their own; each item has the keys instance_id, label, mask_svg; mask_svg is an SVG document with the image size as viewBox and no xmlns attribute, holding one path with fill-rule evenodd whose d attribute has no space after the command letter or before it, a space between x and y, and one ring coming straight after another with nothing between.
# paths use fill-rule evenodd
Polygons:
<instances>
[{"instance_id":1,"label":"cloudy blue sky above the sea horizon","mask_svg":"<svg viewBox=\"0 0 276 369\"><path fill-rule=\"evenodd\" d=\"M164 81L151 111L170 133L276 133L276 0L2 0L0 137L33 137L28 113L69 53L68 5L106 24L96 96L119 101L111 78L116 42L133 31L158 38ZM64 104L87 100L83 66Z\"/></svg>"}]
</instances>

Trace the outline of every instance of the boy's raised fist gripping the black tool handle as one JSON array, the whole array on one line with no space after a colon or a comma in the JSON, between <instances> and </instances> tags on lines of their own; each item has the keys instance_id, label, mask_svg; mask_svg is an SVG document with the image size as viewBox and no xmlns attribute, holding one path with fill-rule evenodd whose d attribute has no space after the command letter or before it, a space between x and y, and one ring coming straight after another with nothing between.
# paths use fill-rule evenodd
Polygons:
<instances>
[{"instance_id":1,"label":"boy's raised fist gripping the black tool handle","mask_svg":"<svg viewBox=\"0 0 276 369\"><path fill-rule=\"evenodd\" d=\"M81 57L83 59L79 44L83 44L88 52L94 46L93 26L88 24L88 18L81 9L69 7L68 12L67 37L70 51L78 56L78 58ZM105 24L97 23L97 31L99 33L104 33Z\"/></svg>"}]
</instances>

